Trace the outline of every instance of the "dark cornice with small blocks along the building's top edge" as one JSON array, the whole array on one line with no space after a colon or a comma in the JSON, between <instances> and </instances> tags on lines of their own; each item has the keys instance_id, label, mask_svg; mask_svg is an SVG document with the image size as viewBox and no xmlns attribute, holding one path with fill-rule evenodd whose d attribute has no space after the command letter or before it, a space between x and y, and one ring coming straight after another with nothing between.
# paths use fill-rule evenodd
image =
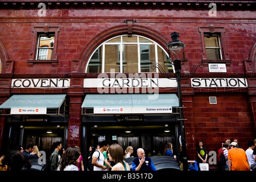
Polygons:
<instances>
[{"instance_id":1,"label":"dark cornice with small blocks along the building's top edge","mask_svg":"<svg viewBox=\"0 0 256 182\"><path fill-rule=\"evenodd\" d=\"M180 0L90 0L90 1L46 1L46 0L35 0L35 1L28 1L28 0L17 0L17 1L10 1L5 0L0 2L0 9L6 9L14 7L37 7L39 3L45 3L48 8L65 8L65 7L110 7L110 8L120 8L120 7L129 7L129 8L159 8L159 9L177 9L177 8L192 8L192 9L202 9L209 6L210 3L216 3L218 9L252 9L255 10L255 3L256 1L238 1L238 0L231 0L231 1L222 1L222 0L187 0L187 1L180 1Z\"/></svg>"}]
</instances>

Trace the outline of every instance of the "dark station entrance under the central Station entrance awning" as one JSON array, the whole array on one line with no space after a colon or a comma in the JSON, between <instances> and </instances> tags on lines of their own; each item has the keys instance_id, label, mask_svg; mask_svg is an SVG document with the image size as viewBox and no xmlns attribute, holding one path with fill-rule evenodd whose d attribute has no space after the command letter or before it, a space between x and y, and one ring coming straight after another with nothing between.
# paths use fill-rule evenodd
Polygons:
<instances>
[{"instance_id":1,"label":"dark station entrance under the central Station entrance awning","mask_svg":"<svg viewBox=\"0 0 256 182\"><path fill-rule=\"evenodd\" d=\"M164 132L164 125L152 126L100 126L90 125L87 127L87 148L97 147L100 140L106 140L109 144L118 143L123 151L128 146L134 148L133 156L137 156L137 149L142 147L149 155L163 155L164 147L167 142L175 144L175 125L170 126L168 133ZM84 127L84 128L85 128ZM175 150L175 148L174 148Z\"/></svg>"}]
</instances>

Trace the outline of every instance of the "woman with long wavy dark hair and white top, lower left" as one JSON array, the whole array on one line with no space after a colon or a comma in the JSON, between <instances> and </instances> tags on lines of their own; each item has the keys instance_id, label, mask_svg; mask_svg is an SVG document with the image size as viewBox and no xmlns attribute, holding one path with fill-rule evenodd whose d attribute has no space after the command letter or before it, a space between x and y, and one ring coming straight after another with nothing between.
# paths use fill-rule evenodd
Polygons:
<instances>
[{"instance_id":1,"label":"woman with long wavy dark hair and white top, lower left","mask_svg":"<svg viewBox=\"0 0 256 182\"><path fill-rule=\"evenodd\" d=\"M57 171L79 171L76 163L79 163L79 149L75 147L68 147L65 150L60 166Z\"/></svg>"}]
</instances>

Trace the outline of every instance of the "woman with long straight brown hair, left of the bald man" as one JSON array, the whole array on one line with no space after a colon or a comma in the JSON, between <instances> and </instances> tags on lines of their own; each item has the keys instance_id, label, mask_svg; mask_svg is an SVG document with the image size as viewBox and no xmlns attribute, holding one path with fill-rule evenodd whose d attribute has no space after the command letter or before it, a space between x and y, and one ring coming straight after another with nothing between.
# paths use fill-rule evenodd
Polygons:
<instances>
[{"instance_id":1,"label":"woman with long straight brown hair, left of the bald man","mask_svg":"<svg viewBox=\"0 0 256 182\"><path fill-rule=\"evenodd\" d=\"M112 144L109 147L108 156L109 160L115 163L111 171L130 171L129 164L123 160L123 148L119 144Z\"/></svg>"}]
</instances>

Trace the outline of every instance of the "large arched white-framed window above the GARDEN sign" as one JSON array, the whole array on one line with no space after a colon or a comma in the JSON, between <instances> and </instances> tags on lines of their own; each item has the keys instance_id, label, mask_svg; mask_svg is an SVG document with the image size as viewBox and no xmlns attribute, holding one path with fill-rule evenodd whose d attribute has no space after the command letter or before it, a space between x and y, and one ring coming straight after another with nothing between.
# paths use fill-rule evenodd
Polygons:
<instances>
[{"instance_id":1,"label":"large arched white-framed window above the GARDEN sign","mask_svg":"<svg viewBox=\"0 0 256 182\"><path fill-rule=\"evenodd\" d=\"M158 72L151 63L159 63L165 72L174 68L166 51L158 43L139 35L116 36L96 48L86 65L86 73L145 73Z\"/></svg>"}]
</instances>

